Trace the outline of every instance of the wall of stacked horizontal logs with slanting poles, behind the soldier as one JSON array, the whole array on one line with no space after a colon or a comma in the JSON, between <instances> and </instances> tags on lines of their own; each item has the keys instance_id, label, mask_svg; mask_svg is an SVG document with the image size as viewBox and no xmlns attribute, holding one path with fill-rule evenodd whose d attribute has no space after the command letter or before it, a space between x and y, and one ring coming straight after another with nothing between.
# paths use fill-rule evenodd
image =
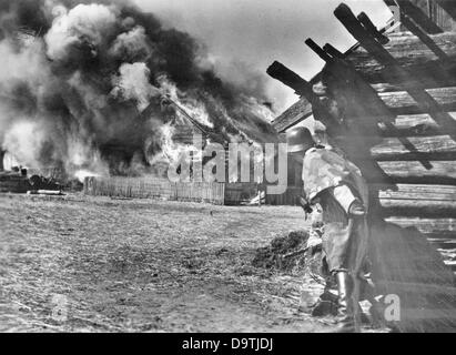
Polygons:
<instances>
[{"instance_id":1,"label":"wall of stacked horizontal logs with slanting poles, behind the soldier","mask_svg":"<svg viewBox=\"0 0 456 355\"><path fill-rule=\"evenodd\" d=\"M336 12L361 42L345 61L363 82L340 72L345 90L331 83L342 92L336 99L352 104L345 112L352 126L335 141L352 148L348 155L368 179L383 217L418 230L456 271L456 36L429 37L446 55L442 59L432 51L434 44L409 32L392 36L386 45L375 43L346 8ZM359 90L364 83L374 92ZM371 173L372 161L377 172Z\"/></svg>"}]
</instances>

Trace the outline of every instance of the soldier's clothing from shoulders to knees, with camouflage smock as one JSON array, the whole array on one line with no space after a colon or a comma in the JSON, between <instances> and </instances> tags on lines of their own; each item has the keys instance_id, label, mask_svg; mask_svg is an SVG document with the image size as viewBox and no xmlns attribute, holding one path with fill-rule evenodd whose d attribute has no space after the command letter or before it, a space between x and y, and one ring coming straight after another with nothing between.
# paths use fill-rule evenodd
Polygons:
<instances>
[{"instance_id":1,"label":"soldier's clothing from shoulders to knees, with camouflage smock","mask_svg":"<svg viewBox=\"0 0 456 355\"><path fill-rule=\"evenodd\" d=\"M368 189L359 169L331 149L313 148L304 156L303 182L307 201L323 209L322 246L328 271L358 274L367 252L366 219L348 219L330 189L348 185L367 210Z\"/></svg>"}]
</instances>

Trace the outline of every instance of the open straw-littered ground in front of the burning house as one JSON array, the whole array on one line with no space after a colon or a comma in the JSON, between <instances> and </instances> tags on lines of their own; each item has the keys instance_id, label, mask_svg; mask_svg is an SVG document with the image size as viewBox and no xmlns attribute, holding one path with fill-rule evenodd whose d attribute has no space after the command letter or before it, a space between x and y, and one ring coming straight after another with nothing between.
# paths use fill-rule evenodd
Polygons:
<instances>
[{"instance_id":1,"label":"open straw-littered ground in front of the burning house","mask_svg":"<svg viewBox=\"0 0 456 355\"><path fill-rule=\"evenodd\" d=\"M0 332L325 332L252 266L298 207L0 195Z\"/></svg>"}]
</instances>

